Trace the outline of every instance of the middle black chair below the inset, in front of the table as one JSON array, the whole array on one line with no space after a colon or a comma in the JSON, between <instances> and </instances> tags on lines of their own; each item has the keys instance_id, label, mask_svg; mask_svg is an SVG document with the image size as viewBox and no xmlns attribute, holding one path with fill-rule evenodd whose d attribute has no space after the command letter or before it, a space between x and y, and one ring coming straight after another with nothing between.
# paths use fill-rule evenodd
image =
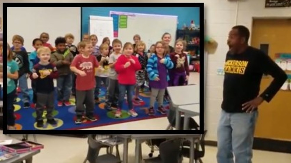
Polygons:
<instances>
[{"instance_id":1,"label":"middle black chair below the inset, in front of the table","mask_svg":"<svg viewBox=\"0 0 291 163\"><path fill-rule=\"evenodd\" d=\"M155 158L145 159L145 163L181 163L181 144L183 139L164 141L159 146L160 155Z\"/></svg>"}]
</instances>

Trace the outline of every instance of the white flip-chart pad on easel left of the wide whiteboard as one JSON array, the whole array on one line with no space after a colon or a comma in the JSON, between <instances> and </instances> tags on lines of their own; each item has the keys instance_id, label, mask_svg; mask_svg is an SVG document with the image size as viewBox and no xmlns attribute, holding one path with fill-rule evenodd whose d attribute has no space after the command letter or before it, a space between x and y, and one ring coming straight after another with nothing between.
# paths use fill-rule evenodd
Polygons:
<instances>
[{"instance_id":1,"label":"white flip-chart pad on easel left of the wide whiteboard","mask_svg":"<svg viewBox=\"0 0 291 163\"><path fill-rule=\"evenodd\" d=\"M98 37L97 45L102 44L104 37L109 37L113 41L113 18L112 17L89 17L89 34L96 34Z\"/></svg>"}]
</instances>

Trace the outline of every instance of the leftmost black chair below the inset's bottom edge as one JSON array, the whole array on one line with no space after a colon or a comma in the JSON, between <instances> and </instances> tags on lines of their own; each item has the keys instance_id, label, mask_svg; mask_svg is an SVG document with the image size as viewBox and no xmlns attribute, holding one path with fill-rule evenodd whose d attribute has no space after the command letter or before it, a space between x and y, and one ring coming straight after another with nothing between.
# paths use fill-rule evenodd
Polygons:
<instances>
[{"instance_id":1,"label":"leftmost black chair below the inset's bottom edge","mask_svg":"<svg viewBox=\"0 0 291 163\"><path fill-rule=\"evenodd\" d=\"M83 163L88 160L90 163L121 163L120 154L118 151L118 145L116 145L116 156L112 154L113 148L111 146L104 145L95 139L95 134L90 134L88 136L88 153L87 157ZM99 156L99 151L101 148L107 148L107 154ZM109 152L110 149L110 152Z\"/></svg>"}]
</instances>

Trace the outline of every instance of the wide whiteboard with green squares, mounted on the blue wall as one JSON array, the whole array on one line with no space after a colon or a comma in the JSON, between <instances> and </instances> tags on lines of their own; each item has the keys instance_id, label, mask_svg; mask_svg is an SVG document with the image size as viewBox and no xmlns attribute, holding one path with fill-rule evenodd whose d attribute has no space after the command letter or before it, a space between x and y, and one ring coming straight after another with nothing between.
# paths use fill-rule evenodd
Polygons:
<instances>
[{"instance_id":1,"label":"wide whiteboard with green squares, mounted on the blue wall","mask_svg":"<svg viewBox=\"0 0 291 163\"><path fill-rule=\"evenodd\" d=\"M168 32L171 34L172 38L170 45L174 46L178 16L110 11L110 17L116 15L118 15L119 18L120 15L127 16L126 28L120 28L120 22L116 22L116 19L120 21L118 18L114 18L113 20L115 24L115 33L116 30L118 30L116 34L118 36L115 36L115 38L120 39L122 44L125 42L134 42L133 36L139 34L141 40L146 43L146 47L149 49L152 44L161 40L165 32Z\"/></svg>"}]
</instances>

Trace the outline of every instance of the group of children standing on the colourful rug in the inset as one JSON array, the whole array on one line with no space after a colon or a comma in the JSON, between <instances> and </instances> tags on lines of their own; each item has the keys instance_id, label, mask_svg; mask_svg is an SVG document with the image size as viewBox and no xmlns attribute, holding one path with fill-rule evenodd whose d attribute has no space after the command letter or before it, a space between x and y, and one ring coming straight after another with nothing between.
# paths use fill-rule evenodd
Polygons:
<instances>
[{"instance_id":1,"label":"group of children standing on the colourful rug in the inset","mask_svg":"<svg viewBox=\"0 0 291 163\"><path fill-rule=\"evenodd\" d=\"M97 46L98 37L94 34L84 35L77 47L73 45L72 34L56 38L56 49L48 44L48 40L47 33L42 33L40 38L34 39L32 44L35 51L31 52L29 57L22 46L24 40L21 36L13 37L13 47L10 48L7 44L8 129L15 129L13 103L18 83L23 95L24 108L30 107L28 77L32 80L32 102L36 104L37 127L44 124L44 109L47 111L47 123L56 124L52 116L55 100L53 79L57 80L58 106L70 106L69 98L71 95L75 96L75 123L81 124L83 118L97 121L93 114L94 105L100 103L98 96L102 84L107 88L107 110L117 108L115 117L120 118L127 96L127 112L136 117L138 113L133 108L133 100L142 101L138 95L148 81L151 90L148 114L153 116L156 100L157 111L166 114L163 107L166 87L185 85L189 78L187 56L183 53L186 43L178 39L175 48L169 46L169 33L163 34L162 40L151 45L148 52L139 35L134 35L134 44L126 42L122 45L119 39L114 39L112 46L109 38L105 37L100 47Z\"/></svg>"}]
</instances>

